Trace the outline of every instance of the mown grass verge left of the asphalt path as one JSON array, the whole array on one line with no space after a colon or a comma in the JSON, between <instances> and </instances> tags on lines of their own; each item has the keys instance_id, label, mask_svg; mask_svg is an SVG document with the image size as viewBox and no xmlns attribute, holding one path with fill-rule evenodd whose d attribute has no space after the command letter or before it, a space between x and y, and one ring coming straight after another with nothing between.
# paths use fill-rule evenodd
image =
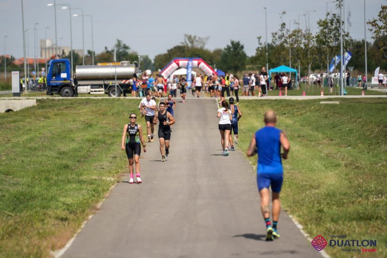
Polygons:
<instances>
[{"instance_id":1,"label":"mown grass verge left of the asphalt path","mask_svg":"<svg viewBox=\"0 0 387 258\"><path fill-rule=\"evenodd\" d=\"M125 170L122 127L139 104L37 102L0 113L0 257L47 257L76 232Z\"/></svg>"}]
</instances>

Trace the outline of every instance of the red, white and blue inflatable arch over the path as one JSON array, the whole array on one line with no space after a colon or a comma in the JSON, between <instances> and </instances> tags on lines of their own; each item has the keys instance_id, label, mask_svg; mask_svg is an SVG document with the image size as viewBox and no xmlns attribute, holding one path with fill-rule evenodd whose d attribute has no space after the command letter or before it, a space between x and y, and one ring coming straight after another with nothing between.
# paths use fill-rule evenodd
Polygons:
<instances>
[{"instance_id":1,"label":"red, white and blue inflatable arch over the path","mask_svg":"<svg viewBox=\"0 0 387 258\"><path fill-rule=\"evenodd\" d=\"M213 75L213 73L217 74L214 69L212 69L208 63L206 63L200 57L192 57L192 58L175 58L170 63L168 63L163 70L161 70L160 74L164 78L168 78L171 74L179 68L187 69L187 81L191 81L191 71L192 68L199 68L205 73L207 76Z\"/></svg>"}]
</instances>

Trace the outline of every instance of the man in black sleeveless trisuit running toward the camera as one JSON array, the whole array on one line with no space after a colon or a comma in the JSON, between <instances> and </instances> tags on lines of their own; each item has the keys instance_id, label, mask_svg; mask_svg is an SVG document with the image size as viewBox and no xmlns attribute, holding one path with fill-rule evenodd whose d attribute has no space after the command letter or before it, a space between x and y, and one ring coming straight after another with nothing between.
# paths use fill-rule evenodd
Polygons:
<instances>
[{"instance_id":1,"label":"man in black sleeveless trisuit running toward the camera","mask_svg":"<svg viewBox=\"0 0 387 258\"><path fill-rule=\"evenodd\" d=\"M169 154L169 140L171 139L171 125L175 123L173 116L165 109L165 103L160 102L159 111L156 112L153 123L159 120L159 141L161 161L165 161L165 156ZM165 146L165 151L164 151Z\"/></svg>"}]
</instances>

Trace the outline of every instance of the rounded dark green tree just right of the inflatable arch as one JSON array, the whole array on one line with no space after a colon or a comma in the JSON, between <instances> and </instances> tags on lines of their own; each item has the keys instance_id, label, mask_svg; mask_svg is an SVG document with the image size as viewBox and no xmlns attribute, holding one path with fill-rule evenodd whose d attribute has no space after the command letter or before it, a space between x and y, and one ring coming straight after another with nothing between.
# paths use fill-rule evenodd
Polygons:
<instances>
[{"instance_id":1,"label":"rounded dark green tree just right of the inflatable arch","mask_svg":"<svg viewBox=\"0 0 387 258\"><path fill-rule=\"evenodd\" d=\"M221 70L237 73L246 67L247 55L240 41L231 40L222 52L219 68Z\"/></svg>"}]
</instances>

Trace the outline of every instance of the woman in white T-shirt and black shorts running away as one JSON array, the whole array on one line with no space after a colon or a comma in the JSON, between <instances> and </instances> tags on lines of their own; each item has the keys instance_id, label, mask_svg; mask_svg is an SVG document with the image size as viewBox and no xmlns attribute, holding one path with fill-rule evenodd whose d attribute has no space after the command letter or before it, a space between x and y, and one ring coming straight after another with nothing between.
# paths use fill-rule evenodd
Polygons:
<instances>
[{"instance_id":1,"label":"woman in white T-shirt and black shorts running away","mask_svg":"<svg viewBox=\"0 0 387 258\"><path fill-rule=\"evenodd\" d=\"M228 107L227 101L222 101L222 107L218 109L219 132L221 136L221 144L223 148L223 156L228 156L228 138L231 133L232 113ZM226 141L226 142L225 142Z\"/></svg>"}]
</instances>

